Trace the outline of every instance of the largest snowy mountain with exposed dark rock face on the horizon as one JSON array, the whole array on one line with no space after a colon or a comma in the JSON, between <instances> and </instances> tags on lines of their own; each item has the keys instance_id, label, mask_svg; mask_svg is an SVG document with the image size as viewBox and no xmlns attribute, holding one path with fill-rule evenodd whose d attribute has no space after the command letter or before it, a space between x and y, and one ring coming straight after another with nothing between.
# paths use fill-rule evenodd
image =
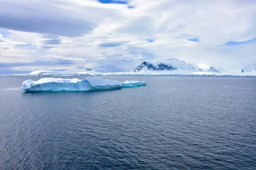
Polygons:
<instances>
[{"instance_id":1,"label":"largest snowy mountain with exposed dark rock face on the horizon","mask_svg":"<svg viewBox=\"0 0 256 170\"><path fill-rule=\"evenodd\" d=\"M156 59L148 59L140 63L134 72L148 72L148 71L202 71L195 63L186 64L185 61L177 58L170 58L163 61Z\"/></svg>"}]
</instances>

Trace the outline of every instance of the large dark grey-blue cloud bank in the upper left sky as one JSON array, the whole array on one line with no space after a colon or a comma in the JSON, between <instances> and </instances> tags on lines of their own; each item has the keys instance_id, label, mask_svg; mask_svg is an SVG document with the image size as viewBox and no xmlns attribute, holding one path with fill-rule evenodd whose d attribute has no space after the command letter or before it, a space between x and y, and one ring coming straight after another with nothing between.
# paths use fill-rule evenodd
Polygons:
<instances>
[{"instance_id":1,"label":"large dark grey-blue cloud bank in the upper left sky","mask_svg":"<svg viewBox=\"0 0 256 170\"><path fill-rule=\"evenodd\" d=\"M42 1L9 0L1 2L0 8L0 27L6 29L72 37L87 34L96 27L95 23Z\"/></svg>"}]
</instances>

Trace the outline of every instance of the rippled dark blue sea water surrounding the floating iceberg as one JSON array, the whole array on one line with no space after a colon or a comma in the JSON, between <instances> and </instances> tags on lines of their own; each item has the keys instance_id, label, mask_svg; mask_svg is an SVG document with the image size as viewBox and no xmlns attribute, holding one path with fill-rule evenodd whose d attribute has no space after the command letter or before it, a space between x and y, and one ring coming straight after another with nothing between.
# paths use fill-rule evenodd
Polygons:
<instances>
[{"instance_id":1,"label":"rippled dark blue sea water surrounding the floating iceberg","mask_svg":"<svg viewBox=\"0 0 256 170\"><path fill-rule=\"evenodd\" d=\"M24 93L29 78L0 77L0 170L256 170L255 77Z\"/></svg>"}]
</instances>

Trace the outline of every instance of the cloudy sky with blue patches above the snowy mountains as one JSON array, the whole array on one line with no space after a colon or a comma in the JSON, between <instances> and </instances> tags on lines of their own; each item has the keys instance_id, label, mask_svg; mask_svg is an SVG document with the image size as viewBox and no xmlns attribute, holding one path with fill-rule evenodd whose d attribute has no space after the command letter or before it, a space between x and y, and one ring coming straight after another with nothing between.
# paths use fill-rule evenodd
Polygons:
<instances>
[{"instance_id":1,"label":"cloudy sky with blue patches above the snowy mountains","mask_svg":"<svg viewBox=\"0 0 256 170\"><path fill-rule=\"evenodd\" d=\"M256 0L0 0L0 73L256 63Z\"/></svg>"}]
</instances>

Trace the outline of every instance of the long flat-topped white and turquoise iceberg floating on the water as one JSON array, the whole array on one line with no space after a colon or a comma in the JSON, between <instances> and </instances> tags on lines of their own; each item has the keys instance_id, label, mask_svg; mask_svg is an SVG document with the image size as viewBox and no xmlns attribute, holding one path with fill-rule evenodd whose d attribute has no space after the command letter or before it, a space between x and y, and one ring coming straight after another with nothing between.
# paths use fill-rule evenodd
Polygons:
<instances>
[{"instance_id":1,"label":"long flat-topped white and turquoise iceberg floating on the water","mask_svg":"<svg viewBox=\"0 0 256 170\"><path fill-rule=\"evenodd\" d=\"M91 91L105 90L122 87L137 87L146 85L146 82L138 81L113 81L101 78L88 77L87 79L61 79L42 78L38 81L28 79L23 82L20 88L23 91Z\"/></svg>"}]
</instances>

